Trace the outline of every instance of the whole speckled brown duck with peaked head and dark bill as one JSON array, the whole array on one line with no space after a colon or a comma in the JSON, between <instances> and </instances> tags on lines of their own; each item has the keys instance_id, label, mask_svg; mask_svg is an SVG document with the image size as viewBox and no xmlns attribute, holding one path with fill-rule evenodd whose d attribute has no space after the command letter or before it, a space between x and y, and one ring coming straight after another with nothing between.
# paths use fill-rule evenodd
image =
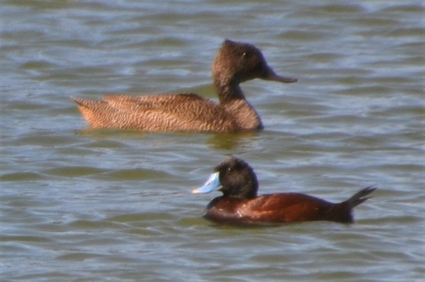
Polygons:
<instances>
[{"instance_id":1,"label":"whole speckled brown duck with peaked head and dark bill","mask_svg":"<svg viewBox=\"0 0 425 282\"><path fill-rule=\"evenodd\" d=\"M91 128L123 128L147 132L246 132L261 130L259 115L239 84L251 79L285 83L268 67L254 45L225 40L212 64L220 103L197 94L154 96L107 95L100 101L73 98Z\"/></svg>"}]
</instances>

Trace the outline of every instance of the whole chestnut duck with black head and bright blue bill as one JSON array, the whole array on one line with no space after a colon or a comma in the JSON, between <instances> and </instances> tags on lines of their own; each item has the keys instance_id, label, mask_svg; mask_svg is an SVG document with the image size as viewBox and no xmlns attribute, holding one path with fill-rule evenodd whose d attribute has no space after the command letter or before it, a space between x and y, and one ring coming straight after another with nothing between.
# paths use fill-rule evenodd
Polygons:
<instances>
[{"instance_id":1,"label":"whole chestnut duck with black head and bright blue bill","mask_svg":"<svg viewBox=\"0 0 425 282\"><path fill-rule=\"evenodd\" d=\"M330 203L302 193L274 193L257 196L259 184L254 170L242 159L230 158L215 168L204 186L192 193L209 193L219 189L223 196L213 199L204 218L230 225L264 225L288 222L326 220L353 222L354 207L370 197L376 188L370 186L347 201Z\"/></svg>"}]
</instances>

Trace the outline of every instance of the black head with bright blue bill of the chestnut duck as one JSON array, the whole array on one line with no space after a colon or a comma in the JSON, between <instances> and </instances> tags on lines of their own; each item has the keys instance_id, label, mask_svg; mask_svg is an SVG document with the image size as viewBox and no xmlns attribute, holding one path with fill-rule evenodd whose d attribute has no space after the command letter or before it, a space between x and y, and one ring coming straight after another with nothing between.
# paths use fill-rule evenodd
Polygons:
<instances>
[{"instance_id":1,"label":"black head with bright blue bill of the chestnut duck","mask_svg":"<svg viewBox=\"0 0 425 282\"><path fill-rule=\"evenodd\" d=\"M259 188L254 170L242 159L231 157L214 169L204 186L192 193L209 193L219 188L225 197L255 198ZM220 188L221 186L221 188Z\"/></svg>"}]
</instances>

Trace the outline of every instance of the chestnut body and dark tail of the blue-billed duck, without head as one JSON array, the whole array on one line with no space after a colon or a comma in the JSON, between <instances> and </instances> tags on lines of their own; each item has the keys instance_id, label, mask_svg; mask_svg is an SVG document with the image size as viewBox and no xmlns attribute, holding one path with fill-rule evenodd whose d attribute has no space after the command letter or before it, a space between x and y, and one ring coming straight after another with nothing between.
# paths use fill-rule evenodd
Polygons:
<instances>
[{"instance_id":1,"label":"chestnut body and dark tail of the blue-billed duck, without head","mask_svg":"<svg viewBox=\"0 0 425 282\"><path fill-rule=\"evenodd\" d=\"M347 201L331 203L302 193L275 193L249 200L220 196L212 200L204 218L225 224L278 224L305 221L352 223L352 210L368 200L375 188L367 187Z\"/></svg>"}]
</instances>

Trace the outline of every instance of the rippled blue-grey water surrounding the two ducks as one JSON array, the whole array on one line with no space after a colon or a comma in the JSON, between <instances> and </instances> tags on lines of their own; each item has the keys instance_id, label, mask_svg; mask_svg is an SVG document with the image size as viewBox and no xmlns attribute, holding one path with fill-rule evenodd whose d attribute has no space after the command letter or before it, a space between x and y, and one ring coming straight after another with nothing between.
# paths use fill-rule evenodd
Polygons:
<instances>
[{"instance_id":1,"label":"rippled blue-grey water surrounding the two ducks","mask_svg":"<svg viewBox=\"0 0 425 282\"><path fill-rule=\"evenodd\" d=\"M1 18L1 281L423 281L423 1L8 0ZM69 96L216 98L222 40L296 84L242 88L252 135L84 130ZM220 227L194 196L230 154L261 193L343 201L356 223Z\"/></svg>"}]
</instances>

